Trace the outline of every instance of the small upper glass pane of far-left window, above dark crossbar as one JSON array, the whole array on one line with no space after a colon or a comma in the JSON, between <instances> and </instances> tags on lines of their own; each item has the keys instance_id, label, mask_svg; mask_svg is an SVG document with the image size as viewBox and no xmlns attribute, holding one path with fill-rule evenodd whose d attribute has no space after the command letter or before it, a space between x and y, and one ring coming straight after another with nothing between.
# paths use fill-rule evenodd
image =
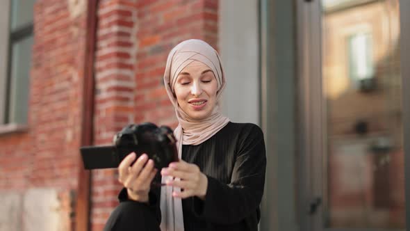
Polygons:
<instances>
[{"instance_id":1,"label":"small upper glass pane of far-left window, above dark crossbar","mask_svg":"<svg viewBox=\"0 0 410 231\"><path fill-rule=\"evenodd\" d=\"M15 31L21 26L33 22L33 8L36 0L11 1L11 30Z\"/></svg>"}]
</instances>

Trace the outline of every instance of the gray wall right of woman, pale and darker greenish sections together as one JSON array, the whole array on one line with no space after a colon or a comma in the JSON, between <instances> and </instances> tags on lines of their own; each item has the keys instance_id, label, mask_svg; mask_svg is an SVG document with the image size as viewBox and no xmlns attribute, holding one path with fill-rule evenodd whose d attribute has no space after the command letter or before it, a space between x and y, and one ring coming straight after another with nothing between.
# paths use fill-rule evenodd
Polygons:
<instances>
[{"instance_id":1,"label":"gray wall right of woman, pale and darker greenish sections together","mask_svg":"<svg viewBox=\"0 0 410 231\"><path fill-rule=\"evenodd\" d=\"M268 165L260 230L299 230L295 199L294 3L219 3L219 48L227 77L222 112L233 121L261 125L265 134Z\"/></svg>"}]
</instances>

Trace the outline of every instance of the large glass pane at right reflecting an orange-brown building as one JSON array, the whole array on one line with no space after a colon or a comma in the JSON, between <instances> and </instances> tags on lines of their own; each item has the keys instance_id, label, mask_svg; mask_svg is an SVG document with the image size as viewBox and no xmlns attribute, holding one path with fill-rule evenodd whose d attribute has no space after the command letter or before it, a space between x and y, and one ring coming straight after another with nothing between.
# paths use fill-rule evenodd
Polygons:
<instances>
[{"instance_id":1,"label":"large glass pane at right reflecting an orange-brown building","mask_svg":"<svg viewBox=\"0 0 410 231\"><path fill-rule=\"evenodd\" d=\"M399 19L399 0L322 0L325 228L406 228Z\"/></svg>"}]
</instances>

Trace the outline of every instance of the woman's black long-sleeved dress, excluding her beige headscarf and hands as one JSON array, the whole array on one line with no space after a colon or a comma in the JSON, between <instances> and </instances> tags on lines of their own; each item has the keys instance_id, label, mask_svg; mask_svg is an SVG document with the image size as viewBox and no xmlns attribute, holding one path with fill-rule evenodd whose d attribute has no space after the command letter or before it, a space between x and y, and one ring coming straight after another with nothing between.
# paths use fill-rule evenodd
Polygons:
<instances>
[{"instance_id":1,"label":"woman's black long-sleeved dress, excluding her beige headscarf and hands","mask_svg":"<svg viewBox=\"0 0 410 231\"><path fill-rule=\"evenodd\" d=\"M182 200L186 231L258 230L266 166L265 143L258 126L229 122L204 143L183 145L182 159L199 166L208 177L205 200ZM156 180L161 181L161 175ZM160 194L160 189L151 189L149 203L141 203L128 200L123 189L120 205L104 230L159 230Z\"/></svg>"}]
</instances>

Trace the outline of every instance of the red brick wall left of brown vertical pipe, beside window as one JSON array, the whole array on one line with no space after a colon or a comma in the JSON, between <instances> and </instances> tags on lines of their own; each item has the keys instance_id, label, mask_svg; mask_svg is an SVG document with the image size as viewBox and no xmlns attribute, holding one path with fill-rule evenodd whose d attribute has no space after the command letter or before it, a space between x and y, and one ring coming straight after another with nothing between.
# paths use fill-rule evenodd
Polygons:
<instances>
[{"instance_id":1,"label":"red brick wall left of brown vertical pipe, beside window","mask_svg":"<svg viewBox=\"0 0 410 231\"><path fill-rule=\"evenodd\" d=\"M81 1L79 1L81 2ZM81 132L85 9L41 0L34 8L28 130L0 136L0 191L58 191L69 228Z\"/></svg>"}]
</instances>

